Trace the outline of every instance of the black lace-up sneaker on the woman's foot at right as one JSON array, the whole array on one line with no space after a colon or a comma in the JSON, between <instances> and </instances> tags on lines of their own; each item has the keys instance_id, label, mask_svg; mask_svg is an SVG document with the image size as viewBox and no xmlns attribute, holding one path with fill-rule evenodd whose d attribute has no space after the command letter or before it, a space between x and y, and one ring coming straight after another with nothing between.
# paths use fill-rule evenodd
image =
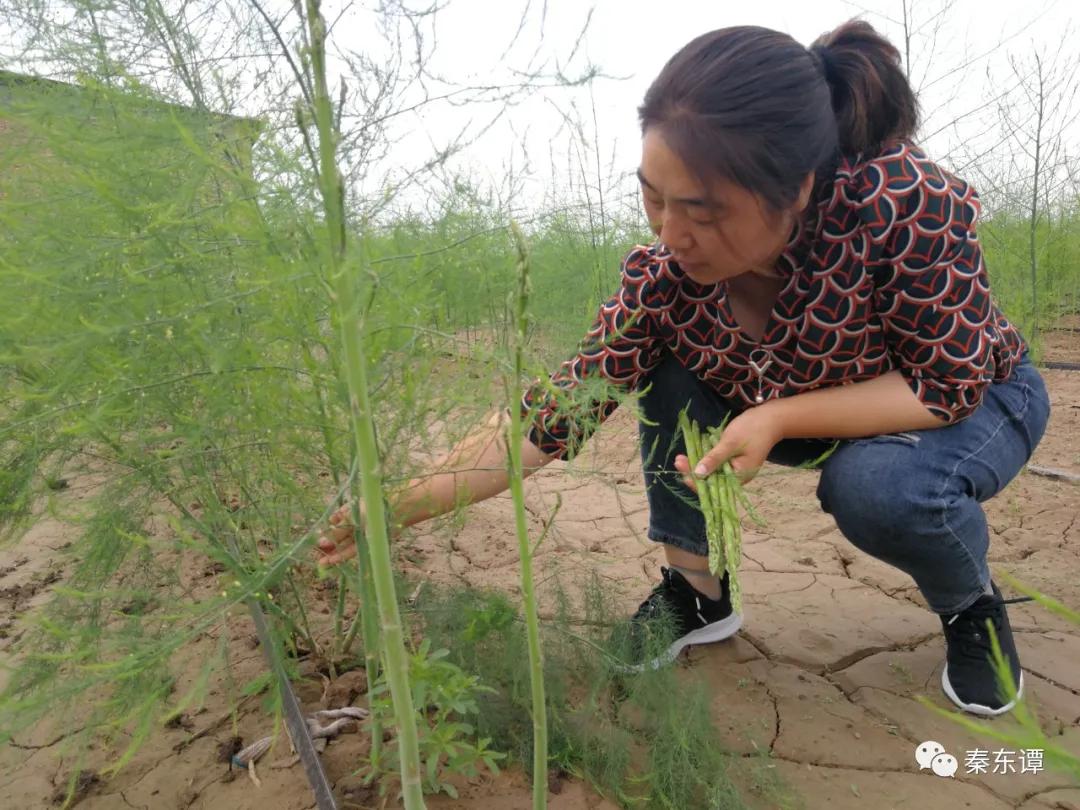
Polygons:
<instances>
[{"instance_id":1,"label":"black lace-up sneaker on the woman's foot at right","mask_svg":"<svg viewBox=\"0 0 1080 810\"><path fill-rule=\"evenodd\" d=\"M1020 656L1009 626L1005 605L1031 600L1030 596L1003 599L994 582L990 582L990 588L994 590L993 596L983 594L967 610L941 617L947 647L942 689L964 712L984 717L1009 712L1024 694L1024 673L1020 669ZM1004 696L998 685L987 621L994 625L994 633L1001 645L1001 654L1012 670L1013 683L1016 685L1014 699Z\"/></svg>"}]
</instances>

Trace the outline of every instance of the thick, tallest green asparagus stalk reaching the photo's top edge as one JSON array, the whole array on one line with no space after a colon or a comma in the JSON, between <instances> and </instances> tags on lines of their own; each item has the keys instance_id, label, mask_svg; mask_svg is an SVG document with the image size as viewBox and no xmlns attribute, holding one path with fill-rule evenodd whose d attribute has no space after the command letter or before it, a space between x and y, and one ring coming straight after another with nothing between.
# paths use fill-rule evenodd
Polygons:
<instances>
[{"instance_id":1,"label":"thick, tallest green asparagus stalk reaching the photo's top edge","mask_svg":"<svg viewBox=\"0 0 1080 810\"><path fill-rule=\"evenodd\" d=\"M334 123L329 93L326 86L326 21L320 12L320 0L306 0L308 63L314 97L314 121L319 133L319 184L325 215L328 261L333 283L332 297L337 309L345 350L346 381L349 386L350 418L360 460L360 489L367 517L366 542L359 542L356 559L362 567L370 566L381 622L382 652L387 680L397 720L397 746L402 771L402 798L406 810L423 808L420 781L420 753L417 738L416 711L409 690L408 658L405 653L393 568L390 562L390 538L382 501L382 471L375 438L375 421L368 396L367 367L364 353L363 323L360 299L352 272L345 267L346 222L345 189L338 171L336 149L337 127ZM363 554L366 546L367 558ZM363 572L361 573L363 577ZM364 610L370 609L368 604ZM367 634L365 633L365 636Z\"/></svg>"}]
</instances>

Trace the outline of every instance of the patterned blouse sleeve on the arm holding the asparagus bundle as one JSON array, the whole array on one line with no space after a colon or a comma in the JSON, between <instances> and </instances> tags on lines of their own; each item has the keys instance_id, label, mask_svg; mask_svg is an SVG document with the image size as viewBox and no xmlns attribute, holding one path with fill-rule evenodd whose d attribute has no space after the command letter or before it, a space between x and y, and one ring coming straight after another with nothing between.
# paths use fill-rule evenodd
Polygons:
<instances>
[{"instance_id":1,"label":"patterned blouse sleeve on the arm holding the asparagus bundle","mask_svg":"<svg viewBox=\"0 0 1080 810\"><path fill-rule=\"evenodd\" d=\"M867 173L876 307L893 361L945 422L969 416L995 376L995 308L975 232L975 190L908 153Z\"/></svg>"}]
</instances>

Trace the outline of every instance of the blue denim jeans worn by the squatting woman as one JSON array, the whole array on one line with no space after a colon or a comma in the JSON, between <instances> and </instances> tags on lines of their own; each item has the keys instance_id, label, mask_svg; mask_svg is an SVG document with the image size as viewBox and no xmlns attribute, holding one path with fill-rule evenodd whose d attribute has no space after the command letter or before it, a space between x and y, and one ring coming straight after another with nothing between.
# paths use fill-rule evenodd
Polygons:
<instances>
[{"instance_id":1,"label":"blue denim jeans worn by the squatting woman","mask_svg":"<svg viewBox=\"0 0 1080 810\"><path fill-rule=\"evenodd\" d=\"M640 397L639 423L648 537L704 555L705 524L697 496L675 472L675 455L686 451L676 418L689 403L689 416L711 427L732 404L671 354L642 386L649 383ZM818 499L856 548L908 573L931 610L959 612L990 581L989 534L980 504L1021 471L1049 416L1047 388L1025 354L1012 377L987 388L967 419L936 430L841 442L822 465ZM769 460L797 465L829 446L785 440Z\"/></svg>"}]
</instances>

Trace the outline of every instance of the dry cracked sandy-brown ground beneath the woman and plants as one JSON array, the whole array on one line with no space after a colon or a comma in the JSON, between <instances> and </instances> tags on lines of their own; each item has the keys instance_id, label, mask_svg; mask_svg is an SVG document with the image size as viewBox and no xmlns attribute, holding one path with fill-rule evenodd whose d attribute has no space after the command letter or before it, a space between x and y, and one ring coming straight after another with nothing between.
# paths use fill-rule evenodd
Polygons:
<instances>
[{"instance_id":1,"label":"dry cracked sandy-brown ground beneath the woman and plants","mask_svg":"<svg viewBox=\"0 0 1080 810\"><path fill-rule=\"evenodd\" d=\"M1080 362L1077 333L1048 334L1047 356ZM1080 474L1080 373L1047 370L1053 417L1034 464ZM563 507L537 559L544 581L566 581L576 570L596 570L633 610L659 577L662 556L645 538L648 519L632 414L617 413L571 465L556 463L528 480L530 521L538 529L561 494ZM822 514L812 472L768 469L751 486L751 497L768 525L745 534L742 582L745 622L738 636L684 653L679 666L704 678L714 693L713 714L729 748L747 758L732 775L751 807L774 807L760 793L759 762L799 796L806 808L847 810L877 804L890 808L951 810L1080 810L1080 785L1042 770L968 773L973 750L1009 750L967 732L918 702L949 707L939 679L944 642L937 618L926 609L907 577L848 543ZM93 482L72 486L60 498L77 501ZM991 568L1080 607L1080 485L1023 473L987 504L993 532ZM39 522L15 548L0 551L0 656L21 632L19 618L48 598L63 581L57 551L72 529L54 519ZM444 582L468 582L516 591L516 540L509 496L472 507L464 526L407 539L403 555L410 573ZM186 572L213 581L213 571ZM544 589L541 588L541 593ZM1013 595L1007 593L1007 595ZM1010 609L1026 684L1040 723L1066 747L1080 753L1080 627L1069 626L1039 606ZM237 676L261 666L252 629L243 616L191 646L190 658L226 634ZM0 659L2 660L2 659ZM355 677L355 676L354 676ZM329 692L318 679L298 687L309 707L340 704L363 689L348 677ZM269 732L258 699L233 717L225 711L226 685L212 685L204 710L185 716L140 751L118 775L92 784L79 807L258 808L313 807L302 770L287 765L285 750L271 752L260 767L262 787L230 781L218 761L219 745L238 733L252 741ZM362 698L360 699L363 700ZM1009 728L1009 718L991 721ZM0 805L48 808L70 768L63 730L37 729L0 751ZM955 778L919 769L915 748L940 742L960 761ZM342 807L376 807L376 797L350 775L366 744L347 734L329 746L324 764ZM70 756L70 754L68 754ZM99 756L90 752L87 761ZM274 766L280 767L274 767ZM434 799L431 807L510 810L527 808L528 786L518 772L461 783L462 798ZM555 785L557 810L613 808L585 786Z\"/></svg>"}]
</instances>

